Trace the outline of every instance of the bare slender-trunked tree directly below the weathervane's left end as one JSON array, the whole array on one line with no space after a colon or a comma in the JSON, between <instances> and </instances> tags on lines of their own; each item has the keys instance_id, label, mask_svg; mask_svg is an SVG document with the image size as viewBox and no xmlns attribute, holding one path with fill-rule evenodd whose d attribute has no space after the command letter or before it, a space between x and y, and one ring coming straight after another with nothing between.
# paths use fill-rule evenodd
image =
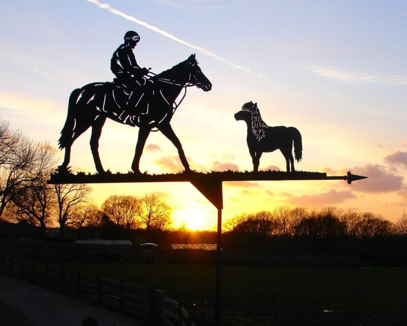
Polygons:
<instances>
[{"instance_id":1,"label":"bare slender-trunked tree directly below the weathervane's left end","mask_svg":"<svg viewBox=\"0 0 407 326\"><path fill-rule=\"evenodd\" d=\"M64 237L67 226L75 226L78 209L86 203L86 196L92 190L86 184L55 184L58 210L57 222L60 224L60 237Z\"/></svg>"}]
</instances>

